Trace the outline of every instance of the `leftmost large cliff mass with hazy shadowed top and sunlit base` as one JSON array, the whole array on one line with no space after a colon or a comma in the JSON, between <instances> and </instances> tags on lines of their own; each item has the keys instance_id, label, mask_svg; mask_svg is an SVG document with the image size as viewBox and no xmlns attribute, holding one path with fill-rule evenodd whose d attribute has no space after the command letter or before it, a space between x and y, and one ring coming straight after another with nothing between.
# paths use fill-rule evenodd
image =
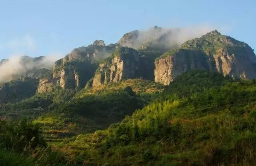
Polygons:
<instances>
[{"instance_id":1,"label":"leftmost large cliff mass with hazy shadowed top and sunlit base","mask_svg":"<svg viewBox=\"0 0 256 166\"><path fill-rule=\"evenodd\" d=\"M59 85L63 89L82 88L93 77L98 67L98 61L104 59L114 51L116 45L105 45L103 40L96 40L87 47L72 50L64 58L53 65L52 79L42 80L38 92L47 92L50 86ZM45 82L46 81L46 82Z\"/></svg>"}]
</instances>

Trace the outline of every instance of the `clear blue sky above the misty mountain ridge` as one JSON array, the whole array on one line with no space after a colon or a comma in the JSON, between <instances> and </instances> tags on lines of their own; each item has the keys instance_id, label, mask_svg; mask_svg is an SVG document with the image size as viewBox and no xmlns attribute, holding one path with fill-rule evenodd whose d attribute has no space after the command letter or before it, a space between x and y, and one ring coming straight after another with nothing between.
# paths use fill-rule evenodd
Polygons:
<instances>
[{"instance_id":1,"label":"clear blue sky above the misty mountain ridge","mask_svg":"<svg viewBox=\"0 0 256 166\"><path fill-rule=\"evenodd\" d=\"M212 26L256 49L255 0L0 0L0 59L65 55L155 25Z\"/></svg>"}]
</instances>

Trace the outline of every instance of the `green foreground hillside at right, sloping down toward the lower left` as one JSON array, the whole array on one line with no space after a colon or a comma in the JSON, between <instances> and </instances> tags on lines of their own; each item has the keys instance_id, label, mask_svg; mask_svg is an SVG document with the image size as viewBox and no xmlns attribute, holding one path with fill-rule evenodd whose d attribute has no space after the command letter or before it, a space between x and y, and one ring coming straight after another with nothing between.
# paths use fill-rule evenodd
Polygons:
<instances>
[{"instance_id":1,"label":"green foreground hillside at right, sloping down toward the lower left","mask_svg":"<svg viewBox=\"0 0 256 166\"><path fill-rule=\"evenodd\" d=\"M255 94L255 81L186 73L155 102L90 136L96 144L84 158L110 165L252 165Z\"/></svg>"}]
</instances>

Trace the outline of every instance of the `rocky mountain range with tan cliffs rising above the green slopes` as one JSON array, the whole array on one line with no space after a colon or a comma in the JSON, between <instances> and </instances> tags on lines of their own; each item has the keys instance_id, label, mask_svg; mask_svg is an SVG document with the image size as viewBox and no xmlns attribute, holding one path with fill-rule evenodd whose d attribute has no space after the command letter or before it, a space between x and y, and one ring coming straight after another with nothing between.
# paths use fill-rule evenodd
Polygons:
<instances>
[{"instance_id":1,"label":"rocky mountain range with tan cliffs rising above the green slopes","mask_svg":"<svg viewBox=\"0 0 256 166\"><path fill-rule=\"evenodd\" d=\"M155 26L147 31L134 30L116 43L105 45L96 40L87 47L73 49L56 61L52 71L44 68L45 57L20 57L17 69L5 80L39 79L38 93L62 89L95 87L125 79L143 78L164 85L193 69L218 71L234 79L256 77L256 57L250 46L217 30L184 42L174 40L181 29ZM169 50L169 51L166 51ZM0 67L10 60L3 59Z\"/></svg>"}]
</instances>

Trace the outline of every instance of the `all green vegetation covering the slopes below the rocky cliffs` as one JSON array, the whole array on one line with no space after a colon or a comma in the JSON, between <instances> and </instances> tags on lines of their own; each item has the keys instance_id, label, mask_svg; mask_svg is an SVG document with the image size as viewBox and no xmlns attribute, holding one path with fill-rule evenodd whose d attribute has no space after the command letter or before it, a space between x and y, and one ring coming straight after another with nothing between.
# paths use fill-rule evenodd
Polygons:
<instances>
[{"instance_id":1,"label":"all green vegetation covering the slopes below the rocky cliffs","mask_svg":"<svg viewBox=\"0 0 256 166\"><path fill-rule=\"evenodd\" d=\"M234 80L218 73L190 71L177 77L161 93L147 95L138 91L138 85L146 85L143 82L134 86L129 81L126 83L130 86L125 87L122 82L106 85L108 90L104 88L104 92L82 89L71 94L60 89L56 94L40 94L15 103L16 109L29 109L30 102L41 101L48 105L48 111L31 116L30 120L1 121L0 164L239 166L255 163L254 79ZM15 110L10 105L4 107L12 108L5 111ZM107 119L109 123L104 123ZM102 126L89 130L97 123ZM82 130L86 126L88 130ZM49 138L54 128L76 130L76 135L68 137L66 133L59 142L54 142L53 137Z\"/></svg>"}]
</instances>

